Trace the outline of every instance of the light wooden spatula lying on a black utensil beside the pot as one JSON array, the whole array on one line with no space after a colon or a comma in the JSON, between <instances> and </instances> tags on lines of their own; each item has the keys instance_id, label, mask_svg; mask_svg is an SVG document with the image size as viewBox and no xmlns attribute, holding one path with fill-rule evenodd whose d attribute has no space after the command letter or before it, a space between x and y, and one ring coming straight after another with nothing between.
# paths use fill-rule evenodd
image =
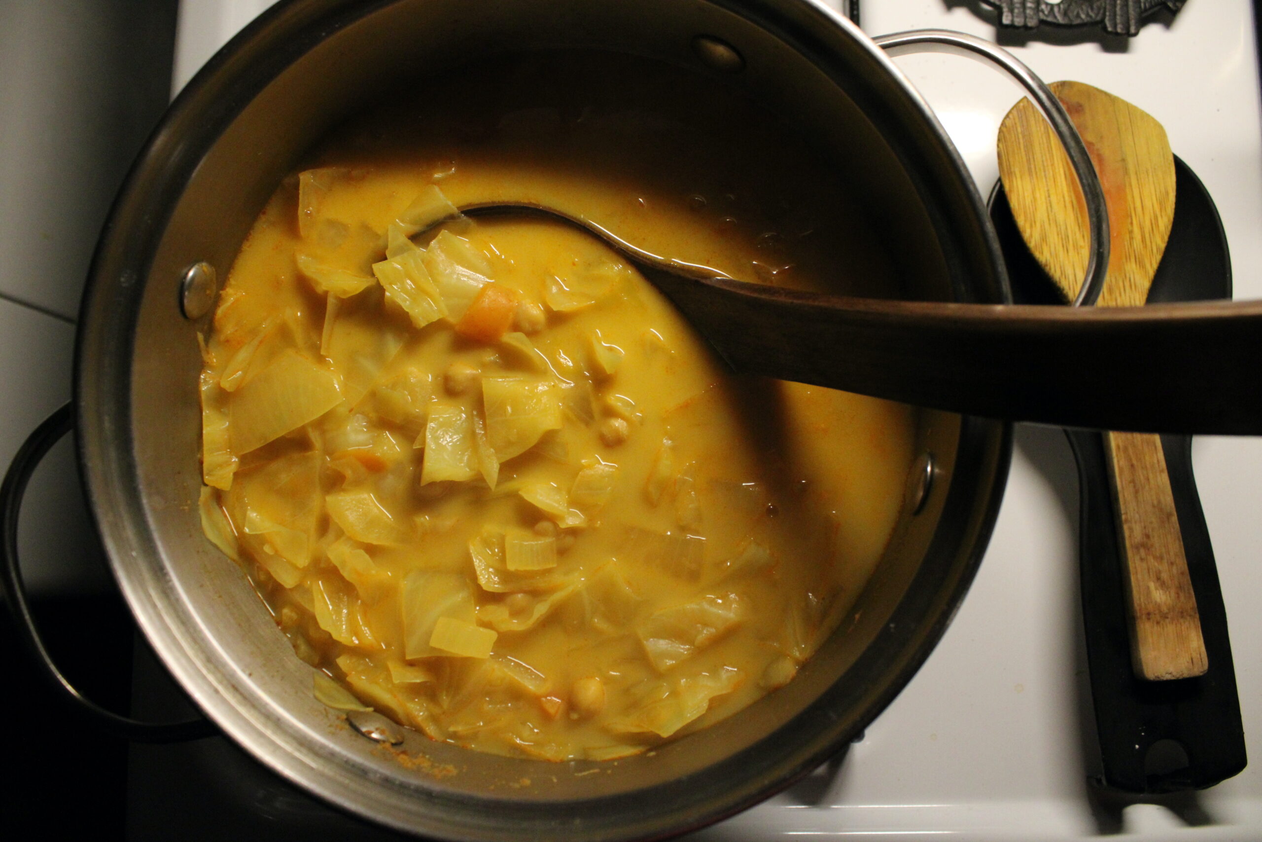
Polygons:
<instances>
[{"instance_id":1,"label":"light wooden spatula lying on a black utensil beside the pot","mask_svg":"<svg viewBox=\"0 0 1262 842\"><path fill-rule=\"evenodd\" d=\"M1087 144L1104 188L1109 266L1099 307L1137 307L1170 236L1174 155L1165 129L1129 102L1082 82L1050 86ZM1029 100L1000 126L1000 175L1030 251L1066 300L1087 268L1087 206L1069 159ZM1157 436L1107 433L1123 535L1136 674L1162 680L1208 668L1196 597Z\"/></svg>"}]
</instances>

